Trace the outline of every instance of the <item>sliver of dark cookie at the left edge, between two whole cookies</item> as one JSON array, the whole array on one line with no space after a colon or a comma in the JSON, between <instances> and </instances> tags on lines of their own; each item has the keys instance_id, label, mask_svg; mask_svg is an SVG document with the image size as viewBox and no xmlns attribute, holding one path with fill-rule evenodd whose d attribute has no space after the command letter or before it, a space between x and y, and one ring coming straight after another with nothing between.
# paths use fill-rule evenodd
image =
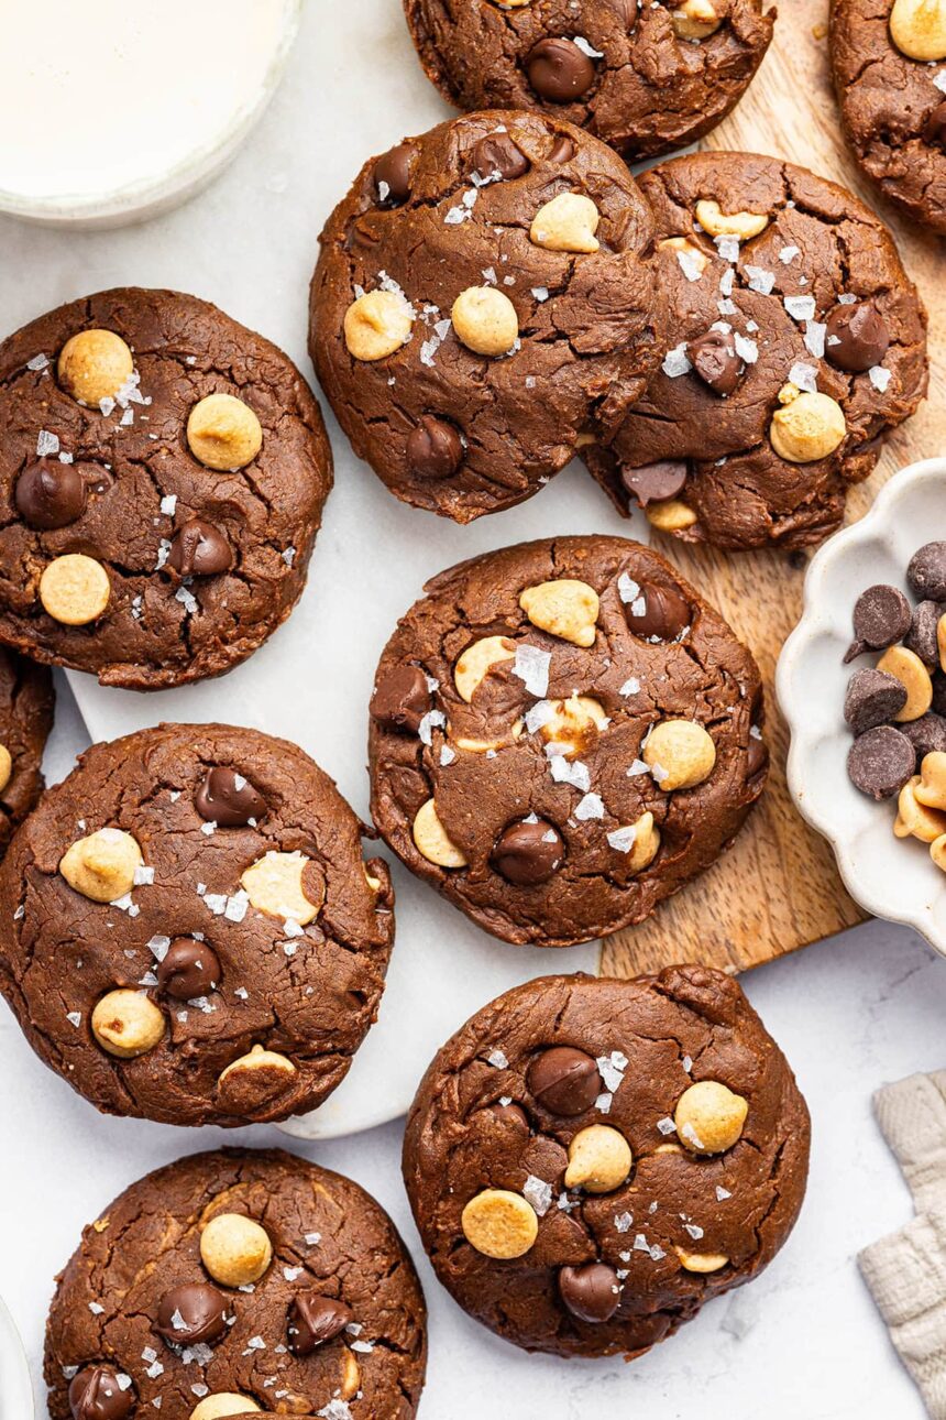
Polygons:
<instances>
[{"instance_id":1,"label":"sliver of dark cookie at the left edge, between two whole cookies","mask_svg":"<svg viewBox=\"0 0 946 1420\"><path fill-rule=\"evenodd\" d=\"M0 858L43 792L52 706L52 676L45 666L0 648Z\"/></svg>"}]
</instances>

